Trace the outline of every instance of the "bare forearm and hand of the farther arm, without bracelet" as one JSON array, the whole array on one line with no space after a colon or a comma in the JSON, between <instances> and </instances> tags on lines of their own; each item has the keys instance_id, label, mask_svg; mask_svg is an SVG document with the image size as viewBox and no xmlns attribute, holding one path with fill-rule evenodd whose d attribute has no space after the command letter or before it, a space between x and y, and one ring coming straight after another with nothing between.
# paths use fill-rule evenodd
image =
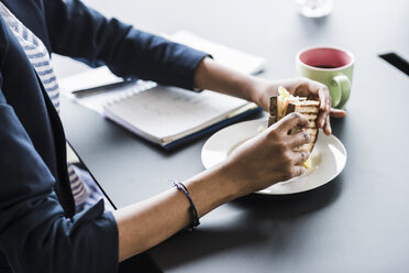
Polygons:
<instances>
[{"instance_id":1,"label":"bare forearm and hand of the farther arm, without bracelet","mask_svg":"<svg viewBox=\"0 0 409 273\"><path fill-rule=\"evenodd\" d=\"M290 94L319 100L320 113L318 127L325 134L331 134L330 116L345 117L344 110L331 108L332 99L328 87L308 78L285 80L266 80L229 69L211 58L203 58L195 73L194 85L200 89L209 89L230 96L252 100L265 111L269 108L269 98L278 96L278 87L283 86Z\"/></svg>"}]
</instances>

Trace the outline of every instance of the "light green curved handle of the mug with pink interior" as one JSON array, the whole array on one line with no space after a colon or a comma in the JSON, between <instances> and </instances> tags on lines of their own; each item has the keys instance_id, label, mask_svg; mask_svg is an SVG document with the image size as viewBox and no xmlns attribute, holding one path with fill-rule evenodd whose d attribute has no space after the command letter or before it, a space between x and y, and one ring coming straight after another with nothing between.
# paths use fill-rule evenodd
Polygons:
<instances>
[{"instance_id":1,"label":"light green curved handle of the mug with pink interior","mask_svg":"<svg viewBox=\"0 0 409 273\"><path fill-rule=\"evenodd\" d=\"M330 88L332 107L343 109L351 94L351 80L343 74L336 75L331 80Z\"/></svg>"}]
</instances>

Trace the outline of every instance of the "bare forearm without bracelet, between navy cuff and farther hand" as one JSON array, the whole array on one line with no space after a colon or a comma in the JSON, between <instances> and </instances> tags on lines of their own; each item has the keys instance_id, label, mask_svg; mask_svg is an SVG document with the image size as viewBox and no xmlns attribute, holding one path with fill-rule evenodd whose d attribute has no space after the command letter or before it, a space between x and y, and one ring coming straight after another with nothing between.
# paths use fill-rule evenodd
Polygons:
<instances>
[{"instance_id":1,"label":"bare forearm without bracelet, between navy cuff and farther hand","mask_svg":"<svg viewBox=\"0 0 409 273\"><path fill-rule=\"evenodd\" d=\"M196 69L194 83L199 89L209 89L258 103L258 90L265 80L230 69L211 58L203 58Z\"/></svg>"}]
</instances>

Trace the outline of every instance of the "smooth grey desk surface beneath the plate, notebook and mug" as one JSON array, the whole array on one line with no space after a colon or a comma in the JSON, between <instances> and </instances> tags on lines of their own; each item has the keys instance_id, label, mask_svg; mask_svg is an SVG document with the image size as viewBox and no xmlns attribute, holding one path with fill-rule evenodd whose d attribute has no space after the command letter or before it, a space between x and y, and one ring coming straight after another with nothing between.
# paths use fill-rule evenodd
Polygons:
<instances>
[{"instance_id":1,"label":"smooth grey desk surface beneath the plate, notebook and mug","mask_svg":"<svg viewBox=\"0 0 409 273\"><path fill-rule=\"evenodd\" d=\"M409 270L409 78L377 57L409 58L409 2L334 1L329 18L296 12L294 1L92 0L143 29L201 36L266 58L266 78L294 76L294 56L336 45L356 56L349 116L333 122L349 160L312 192L248 196L202 219L151 253L165 272L405 272ZM57 59L59 74L77 65ZM73 102L64 101L69 141L118 207L203 170L202 138L165 153ZM141 223L143 225L143 223Z\"/></svg>"}]
</instances>

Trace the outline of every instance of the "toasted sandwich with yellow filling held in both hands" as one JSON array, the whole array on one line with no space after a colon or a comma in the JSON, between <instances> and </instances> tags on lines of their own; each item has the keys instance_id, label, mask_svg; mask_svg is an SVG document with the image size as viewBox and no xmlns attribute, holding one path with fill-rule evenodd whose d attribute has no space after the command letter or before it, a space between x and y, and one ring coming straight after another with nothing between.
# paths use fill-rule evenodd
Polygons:
<instances>
[{"instance_id":1,"label":"toasted sandwich with yellow filling held in both hands","mask_svg":"<svg viewBox=\"0 0 409 273\"><path fill-rule=\"evenodd\" d=\"M309 128L296 127L291 129L290 133L307 131L311 136L310 143L298 146L295 149L295 151L308 151L311 153L318 136L317 117L319 111L319 101L308 100L305 97L295 97L290 95L286 88L279 87L278 97L272 97L269 100L268 125L272 125L291 112L303 114L310 121ZM303 166L306 168L311 167L310 159L307 159L307 161L303 163Z\"/></svg>"}]
</instances>

